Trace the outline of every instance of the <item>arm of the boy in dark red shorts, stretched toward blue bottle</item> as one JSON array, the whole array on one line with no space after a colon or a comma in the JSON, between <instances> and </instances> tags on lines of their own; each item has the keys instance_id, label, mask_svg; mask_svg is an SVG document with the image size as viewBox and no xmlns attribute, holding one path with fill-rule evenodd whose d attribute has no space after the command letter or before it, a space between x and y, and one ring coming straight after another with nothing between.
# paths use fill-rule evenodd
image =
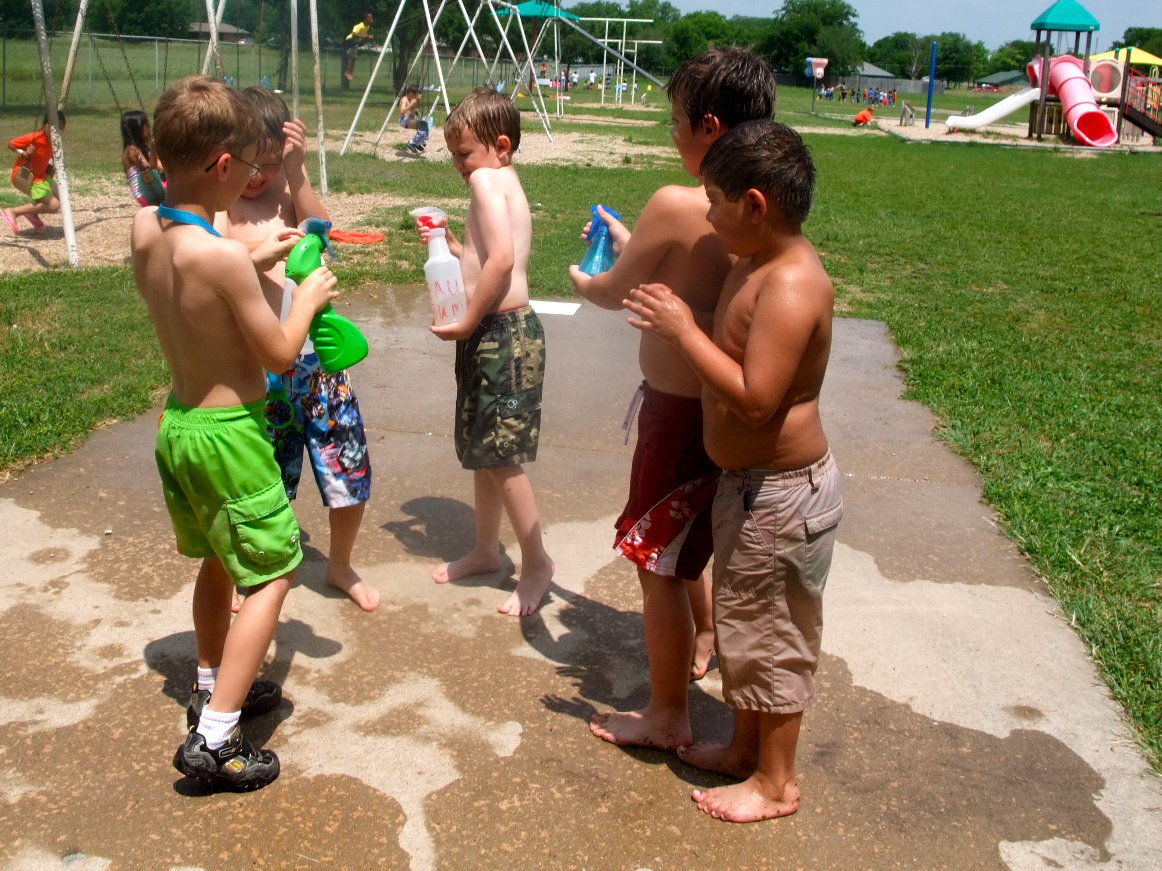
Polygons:
<instances>
[{"instance_id":1,"label":"arm of the boy in dark red shorts, stretched toward blue bottle","mask_svg":"<svg viewBox=\"0 0 1162 871\"><path fill-rule=\"evenodd\" d=\"M630 288L657 278L658 266L673 244L672 228L688 216L682 214L681 188L664 187L650 197L646 208L625 242L621 257L609 272L586 275L579 266L569 267L573 289L603 309L622 308Z\"/></svg>"}]
</instances>

